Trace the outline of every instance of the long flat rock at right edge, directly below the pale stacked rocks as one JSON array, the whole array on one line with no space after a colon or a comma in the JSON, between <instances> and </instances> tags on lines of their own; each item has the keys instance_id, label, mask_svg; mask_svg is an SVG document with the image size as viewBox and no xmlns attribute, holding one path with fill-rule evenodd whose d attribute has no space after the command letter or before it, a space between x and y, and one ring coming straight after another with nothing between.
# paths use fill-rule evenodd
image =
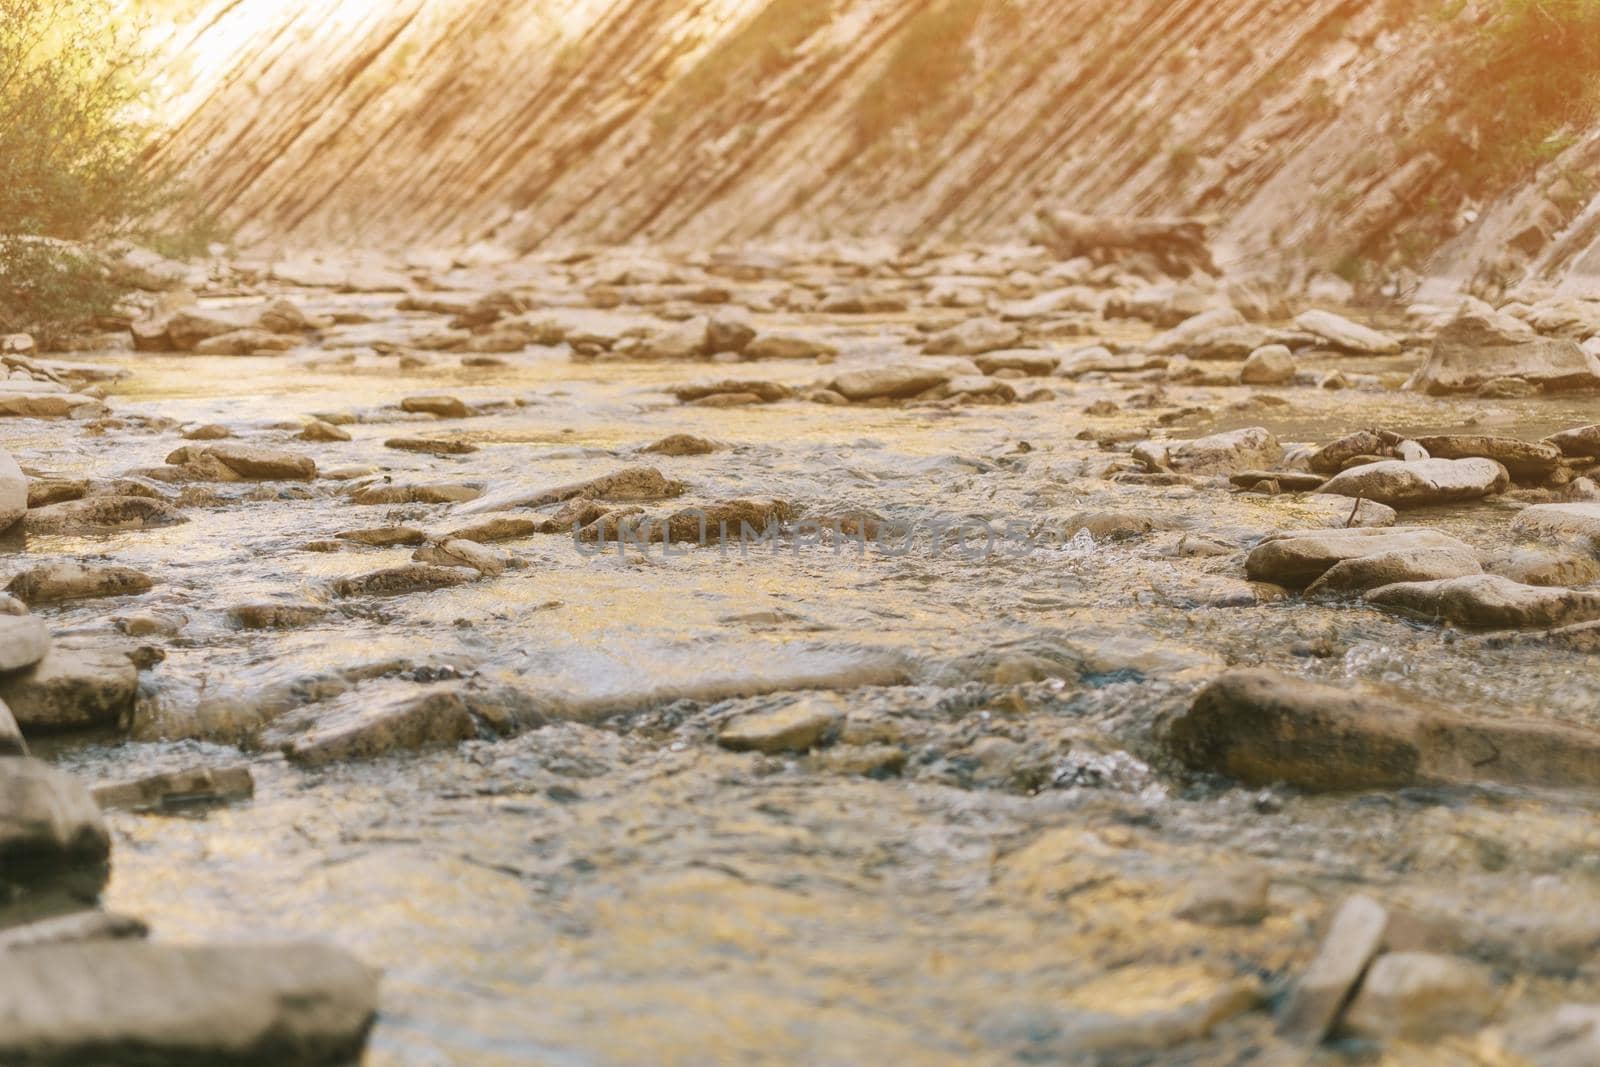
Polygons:
<instances>
[{"instance_id":1,"label":"long flat rock at right edge, directly below the pale stacked rocks","mask_svg":"<svg viewBox=\"0 0 1600 1067\"><path fill-rule=\"evenodd\" d=\"M1466 630L1555 629L1600 619L1600 592L1520 585L1499 574L1384 585L1366 593L1366 601Z\"/></svg>"}]
</instances>

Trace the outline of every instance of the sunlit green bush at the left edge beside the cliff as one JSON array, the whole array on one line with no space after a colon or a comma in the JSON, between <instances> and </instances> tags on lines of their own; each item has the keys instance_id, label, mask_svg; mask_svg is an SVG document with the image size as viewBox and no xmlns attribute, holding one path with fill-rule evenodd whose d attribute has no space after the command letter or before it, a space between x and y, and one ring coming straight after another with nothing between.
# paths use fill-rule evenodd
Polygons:
<instances>
[{"instance_id":1,"label":"sunlit green bush at the left edge beside the cliff","mask_svg":"<svg viewBox=\"0 0 1600 1067\"><path fill-rule=\"evenodd\" d=\"M112 0L0 0L0 333L46 344L120 296L94 248L171 202Z\"/></svg>"}]
</instances>

